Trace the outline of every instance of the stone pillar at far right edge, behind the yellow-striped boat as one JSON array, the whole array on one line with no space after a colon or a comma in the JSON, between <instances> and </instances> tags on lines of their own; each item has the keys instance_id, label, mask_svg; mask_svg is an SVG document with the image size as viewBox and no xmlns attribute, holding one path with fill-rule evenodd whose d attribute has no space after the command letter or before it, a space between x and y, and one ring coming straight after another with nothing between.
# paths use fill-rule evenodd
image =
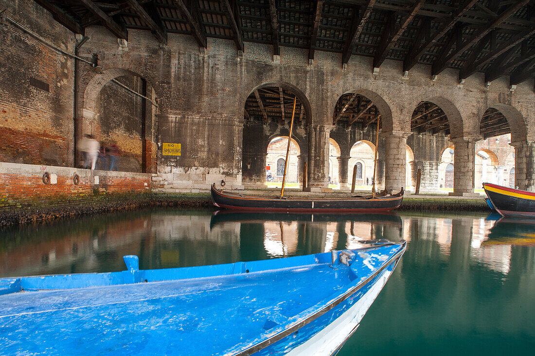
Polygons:
<instances>
[{"instance_id":1,"label":"stone pillar at far right edge, behind the yellow-striped boat","mask_svg":"<svg viewBox=\"0 0 535 356\"><path fill-rule=\"evenodd\" d=\"M535 191L535 141L511 142L515 148L515 187Z\"/></svg>"}]
</instances>

